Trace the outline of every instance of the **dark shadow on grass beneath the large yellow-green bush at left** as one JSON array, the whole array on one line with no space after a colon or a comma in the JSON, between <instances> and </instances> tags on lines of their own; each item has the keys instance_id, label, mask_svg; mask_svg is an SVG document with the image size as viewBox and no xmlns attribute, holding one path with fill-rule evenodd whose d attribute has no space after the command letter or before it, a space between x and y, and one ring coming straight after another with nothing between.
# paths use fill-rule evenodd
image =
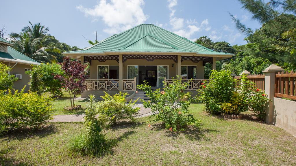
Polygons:
<instances>
[{"instance_id":1,"label":"dark shadow on grass beneath the large yellow-green bush at left","mask_svg":"<svg viewBox=\"0 0 296 166\"><path fill-rule=\"evenodd\" d=\"M7 134L4 135L4 140L12 140L12 139L27 139L27 138L43 138L50 134L57 133L57 128L54 124L47 124L45 126L41 126L39 130L33 130L31 128L20 128L9 130Z\"/></svg>"}]
</instances>

